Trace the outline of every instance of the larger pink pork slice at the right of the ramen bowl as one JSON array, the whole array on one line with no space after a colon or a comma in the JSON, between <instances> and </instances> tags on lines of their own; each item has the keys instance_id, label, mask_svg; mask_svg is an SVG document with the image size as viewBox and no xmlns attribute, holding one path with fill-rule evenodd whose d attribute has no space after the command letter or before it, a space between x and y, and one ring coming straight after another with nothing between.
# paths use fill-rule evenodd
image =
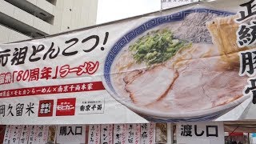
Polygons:
<instances>
[{"instance_id":1,"label":"larger pink pork slice at the right of the ramen bowl","mask_svg":"<svg viewBox=\"0 0 256 144\"><path fill-rule=\"evenodd\" d=\"M238 69L223 70L220 57L184 61L178 67L178 78L166 94L171 109L182 111L206 110L242 97L246 77Z\"/></svg>"}]
</instances>

